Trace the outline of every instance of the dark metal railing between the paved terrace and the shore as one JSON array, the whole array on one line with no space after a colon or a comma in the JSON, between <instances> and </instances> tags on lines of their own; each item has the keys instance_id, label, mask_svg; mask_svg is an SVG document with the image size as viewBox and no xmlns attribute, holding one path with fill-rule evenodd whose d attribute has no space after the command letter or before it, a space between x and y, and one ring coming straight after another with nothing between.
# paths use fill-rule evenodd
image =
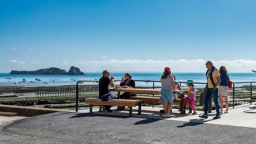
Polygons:
<instances>
[{"instance_id":1,"label":"dark metal railing between the paved terrace and the shore","mask_svg":"<svg viewBox=\"0 0 256 144\"><path fill-rule=\"evenodd\" d=\"M99 80L79 80L76 82L76 112L78 111L78 95L79 95L79 91L78 91L78 88L79 88L79 82L98 82ZM115 80L116 81L121 81L121 80ZM155 88L160 88L159 86L155 86L155 82L157 83L161 83L161 81L151 81L151 80L134 80L135 82L153 82L153 89ZM180 85L181 84L185 84L186 82L179 82ZM256 83L256 82L234 82L233 83L233 108L235 107L235 84L246 84L246 83L250 83L250 104L252 105L252 83ZM206 83L197 83L195 82L194 84L206 84ZM154 96L154 94L153 94ZM212 106L212 97L210 99L210 102L209 102L209 106ZM212 108L209 108L209 112L212 112Z\"/></svg>"}]
</instances>

